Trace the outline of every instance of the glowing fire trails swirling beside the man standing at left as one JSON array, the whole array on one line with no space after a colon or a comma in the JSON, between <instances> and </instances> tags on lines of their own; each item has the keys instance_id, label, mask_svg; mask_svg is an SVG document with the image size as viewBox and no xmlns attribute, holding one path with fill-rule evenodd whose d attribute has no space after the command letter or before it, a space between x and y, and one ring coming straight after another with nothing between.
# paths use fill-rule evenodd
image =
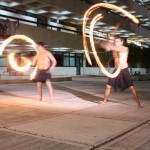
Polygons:
<instances>
[{"instance_id":1,"label":"glowing fire trails swirling beside the man standing at left","mask_svg":"<svg viewBox=\"0 0 150 150\"><path fill-rule=\"evenodd\" d=\"M16 35L10 36L10 37L7 38L6 40L4 40L4 42L3 42L2 45L0 46L0 55L2 55L2 53L3 53L4 49L5 49L5 47L6 47L11 41L13 41L13 40L18 40L18 39L24 40L24 41L26 41L26 42L29 42L29 43L33 46L33 48L36 49L36 43L35 43L31 38L29 38L29 37L27 37L27 36L25 36L25 35L16 34ZM8 57L9 57L9 61L10 61L11 66L12 66L15 70L17 70L17 71L20 71L20 72L27 71L27 70L30 68L30 66L31 66L31 62L30 62L30 61L27 61L27 63L26 63L25 66L19 67L19 66L16 64L15 60L14 60L14 53L9 54ZM37 68L35 68L34 71L33 71L33 73L30 75L30 79L33 79L33 78L34 78L34 76L35 76L35 74L36 74L36 70L37 70Z\"/></svg>"}]
</instances>

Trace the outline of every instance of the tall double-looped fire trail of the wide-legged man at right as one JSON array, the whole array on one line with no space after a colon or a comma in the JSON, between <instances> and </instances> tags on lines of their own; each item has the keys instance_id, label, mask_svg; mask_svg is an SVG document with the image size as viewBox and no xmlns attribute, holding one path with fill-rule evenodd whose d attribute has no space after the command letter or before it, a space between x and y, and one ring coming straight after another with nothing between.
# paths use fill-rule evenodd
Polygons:
<instances>
[{"instance_id":1,"label":"tall double-looped fire trail of the wide-legged man at right","mask_svg":"<svg viewBox=\"0 0 150 150\"><path fill-rule=\"evenodd\" d=\"M84 52L85 52L85 56L88 60L88 63L90 65L92 65L92 62L91 62L91 59L90 59L90 56L89 56L89 50L88 50L88 46L87 46L87 41L86 41L86 25L87 25L87 18L89 17L89 15L97 8L99 7L105 7L105 8L108 8L108 9L112 9L112 10L117 10L119 11L120 13L126 15L129 19L131 19L134 23L138 24L139 23L139 20L133 16L132 14L130 14L129 12L127 12L126 10L118 7L118 6L115 6L115 5L112 5L112 4L106 4L106 3L98 3L98 4L95 4L93 5L92 7L90 7L86 12L85 12L85 15L84 15L84 21L83 21L83 26L82 26L82 37L83 37L83 46L84 46ZM122 57L120 58L120 63L119 63L119 66L116 70L116 72L114 72L113 74L110 74L108 71L106 71L106 69L104 68L104 66L102 65L98 55L97 55L97 52L95 50L95 45L94 45L94 40L93 40L93 29L94 29L94 25L95 23L102 18L102 14L98 14L96 15L92 21L91 21L91 24L90 24L90 44L91 44L91 48L92 48L92 51L93 51L93 54L94 54L94 57L95 57L95 60L98 64L98 66L100 67L100 69L102 70L102 72L108 76L108 77L111 77L111 78L114 78L116 77L120 70L121 70L121 66L122 66Z\"/></svg>"}]
</instances>

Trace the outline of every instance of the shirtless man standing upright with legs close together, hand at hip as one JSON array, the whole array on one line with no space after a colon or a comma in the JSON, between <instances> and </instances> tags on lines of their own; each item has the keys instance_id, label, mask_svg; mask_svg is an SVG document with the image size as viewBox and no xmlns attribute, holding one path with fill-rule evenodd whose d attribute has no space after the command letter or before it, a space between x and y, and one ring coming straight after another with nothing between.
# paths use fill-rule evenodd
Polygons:
<instances>
[{"instance_id":1,"label":"shirtless man standing upright with legs close together, hand at hip","mask_svg":"<svg viewBox=\"0 0 150 150\"><path fill-rule=\"evenodd\" d=\"M42 82L46 82L48 87L50 101L53 100L53 88L51 85L51 73L56 66L56 59L54 56L44 48L43 42L36 44L37 54L34 57L31 66L37 66L37 74L35 80L37 82L37 91L39 100L42 100Z\"/></svg>"}]
</instances>

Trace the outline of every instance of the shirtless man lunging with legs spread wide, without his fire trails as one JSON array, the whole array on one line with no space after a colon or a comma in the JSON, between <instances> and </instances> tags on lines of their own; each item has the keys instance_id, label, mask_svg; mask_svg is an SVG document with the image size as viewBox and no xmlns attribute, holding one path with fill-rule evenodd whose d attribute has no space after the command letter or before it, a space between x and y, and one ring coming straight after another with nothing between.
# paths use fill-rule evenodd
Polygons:
<instances>
[{"instance_id":1,"label":"shirtless man lunging with legs spread wide, without his fire trails","mask_svg":"<svg viewBox=\"0 0 150 150\"><path fill-rule=\"evenodd\" d=\"M111 91L111 87L114 87L115 89L121 88L122 90L125 90L126 88L129 88L133 94L133 97L136 101L137 107L141 108L141 104L136 92L136 89L133 85L133 80L131 78L131 75L128 71L128 54L129 49L128 47L123 46L123 39L120 37L115 37L113 43L107 43L102 44L103 48L106 48L106 51L113 51L114 59L115 59L115 69L118 67L120 58L122 62L122 69L119 75L115 78L109 78L108 83L106 85L106 90L104 93L104 101L103 104L106 104L108 101L108 96Z\"/></svg>"}]
</instances>

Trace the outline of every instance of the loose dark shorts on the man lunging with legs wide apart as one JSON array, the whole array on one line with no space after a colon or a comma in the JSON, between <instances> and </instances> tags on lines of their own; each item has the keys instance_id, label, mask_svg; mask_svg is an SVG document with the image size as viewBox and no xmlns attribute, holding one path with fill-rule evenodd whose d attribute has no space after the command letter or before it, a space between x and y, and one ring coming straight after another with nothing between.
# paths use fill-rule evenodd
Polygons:
<instances>
[{"instance_id":1,"label":"loose dark shorts on the man lunging with legs wide apart","mask_svg":"<svg viewBox=\"0 0 150 150\"><path fill-rule=\"evenodd\" d=\"M114 70L114 72L115 71L116 69ZM117 77L109 78L107 84L111 87L114 87L115 90L117 90L118 88L120 88L121 90L125 90L130 86L133 86L133 80L128 71L128 68L122 69Z\"/></svg>"}]
</instances>

